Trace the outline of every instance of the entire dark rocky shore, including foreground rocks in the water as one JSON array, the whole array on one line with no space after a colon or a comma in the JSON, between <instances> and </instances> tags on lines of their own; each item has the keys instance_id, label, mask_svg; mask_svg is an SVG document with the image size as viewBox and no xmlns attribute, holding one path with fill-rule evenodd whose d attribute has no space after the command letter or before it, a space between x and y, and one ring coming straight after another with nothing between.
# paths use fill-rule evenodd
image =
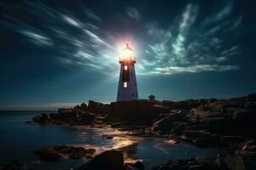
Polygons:
<instances>
[{"instance_id":1,"label":"entire dark rocky shore, including foreground rocks in the water","mask_svg":"<svg viewBox=\"0 0 256 170\"><path fill-rule=\"evenodd\" d=\"M170 160L154 167L166 169L256 169L256 94L234 99L137 100L102 104L89 101L58 113L33 117L33 122L56 125L113 127L136 136L184 140L198 147L225 148L215 161L207 158ZM113 139L113 136L104 138ZM140 169L143 163L124 163L121 150L97 153L93 148L68 145L35 150L39 159L62 157L90 161L76 169ZM14 169L14 168L3 168Z\"/></svg>"}]
</instances>

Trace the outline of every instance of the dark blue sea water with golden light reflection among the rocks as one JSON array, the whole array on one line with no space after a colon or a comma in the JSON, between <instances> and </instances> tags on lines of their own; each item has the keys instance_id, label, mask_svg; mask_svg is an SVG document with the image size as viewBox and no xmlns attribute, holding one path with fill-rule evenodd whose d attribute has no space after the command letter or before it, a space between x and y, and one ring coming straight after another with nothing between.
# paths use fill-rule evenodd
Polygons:
<instances>
[{"instance_id":1,"label":"dark blue sea water with golden light reflection among the rocks","mask_svg":"<svg viewBox=\"0 0 256 170\"><path fill-rule=\"evenodd\" d=\"M45 112L45 111L44 111ZM51 111L52 112L52 111ZM198 148L193 144L170 144L165 138L140 138L120 135L113 139L103 134L119 133L113 129L88 129L28 123L42 111L0 111L0 167L11 160L26 163L28 169L65 169L78 167L85 160L39 161L33 150L53 144L91 144L103 149L126 146L126 161L141 160L147 169L172 159L215 157L218 149Z\"/></svg>"}]
</instances>

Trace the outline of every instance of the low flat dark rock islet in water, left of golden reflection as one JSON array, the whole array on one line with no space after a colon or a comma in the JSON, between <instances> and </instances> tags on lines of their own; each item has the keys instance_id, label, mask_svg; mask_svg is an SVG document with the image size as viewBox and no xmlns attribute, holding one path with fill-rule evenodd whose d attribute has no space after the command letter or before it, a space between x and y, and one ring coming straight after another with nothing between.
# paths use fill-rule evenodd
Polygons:
<instances>
[{"instance_id":1,"label":"low flat dark rock islet in water, left of golden reflection","mask_svg":"<svg viewBox=\"0 0 256 170\"><path fill-rule=\"evenodd\" d=\"M89 159L95 152L95 149L85 149L84 147L73 145L56 145L34 150L34 154L42 161L60 161L63 157Z\"/></svg>"}]
</instances>

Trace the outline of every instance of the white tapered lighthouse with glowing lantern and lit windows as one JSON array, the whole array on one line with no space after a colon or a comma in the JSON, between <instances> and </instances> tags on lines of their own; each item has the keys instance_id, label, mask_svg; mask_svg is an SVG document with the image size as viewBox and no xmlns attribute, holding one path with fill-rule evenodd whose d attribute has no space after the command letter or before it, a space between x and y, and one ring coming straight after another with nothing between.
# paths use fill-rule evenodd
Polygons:
<instances>
[{"instance_id":1,"label":"white tapered lighthouse with glowing lantern and lit windows","mask_svg":"<svg viewBox=\"0 0 256 170\"><path fill-rule=\"evenodd\" d=\"M137 100L137 80L134 67L136 58L128 43L126 43L126 47L122 51L119 64L120 74L117 101Z\"/></svg>"}]
</instances>

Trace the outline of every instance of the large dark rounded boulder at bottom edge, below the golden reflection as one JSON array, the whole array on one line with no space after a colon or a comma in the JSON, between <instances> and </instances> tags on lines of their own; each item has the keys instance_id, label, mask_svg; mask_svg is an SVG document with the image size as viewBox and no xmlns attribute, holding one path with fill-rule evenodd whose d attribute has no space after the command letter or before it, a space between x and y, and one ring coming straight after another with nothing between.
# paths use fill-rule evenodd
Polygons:
<instances>
[{"instance_id":1,"label":"large dark rounded boulder at bottom edge, below the golden reflection","mask_svg":"<svg viewBox=\"0 0 256 170\"><path fill-rule=\"evenodd\" d=\"M98 170L111 169L120 170L124 167L123 154L117 150L107 150L100 155L95 156L90 161L87 161L76 170Z\"/></svg>"}]
</instances>

